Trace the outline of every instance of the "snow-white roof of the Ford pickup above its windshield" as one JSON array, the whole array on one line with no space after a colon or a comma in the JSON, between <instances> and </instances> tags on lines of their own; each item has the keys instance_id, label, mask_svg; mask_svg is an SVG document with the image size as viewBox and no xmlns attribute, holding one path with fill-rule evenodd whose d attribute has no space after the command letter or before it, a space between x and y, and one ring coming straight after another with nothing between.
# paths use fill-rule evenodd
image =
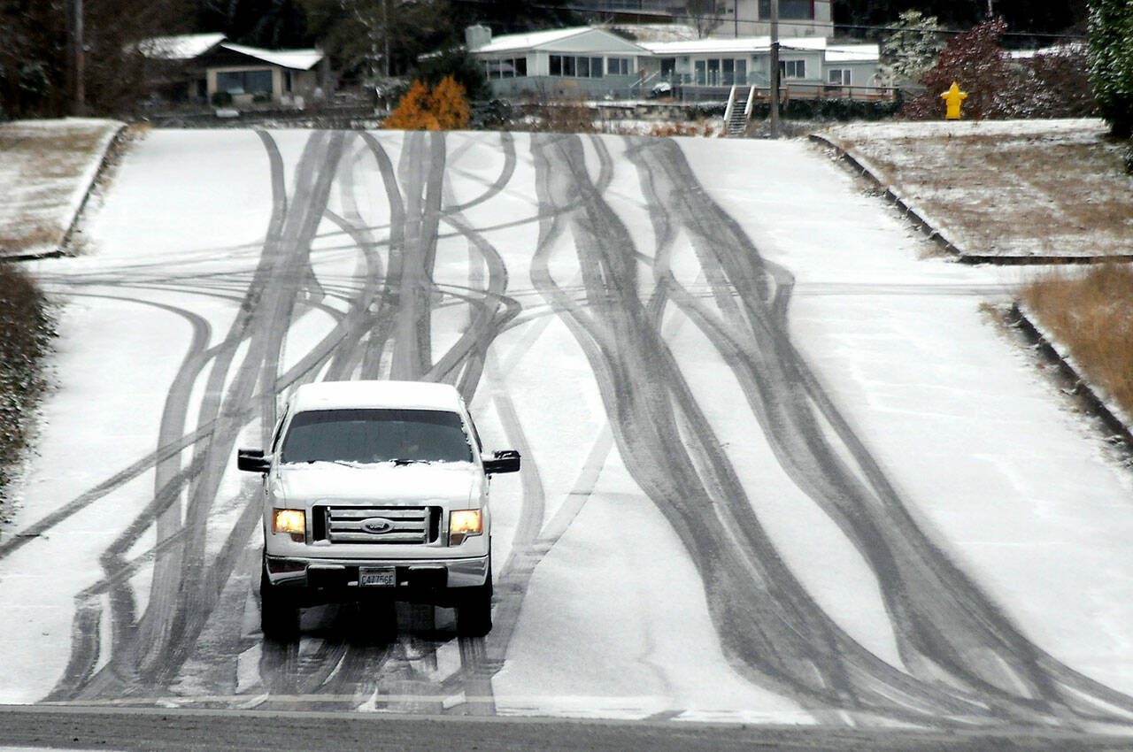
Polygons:
<instances>
[{"instance_id":1,"label":"snow-white roof of the Ford pickup above its windshield","mask_svg":"<svg viewBox=\"0 0 1133 752\"><path fill-rule=\"evenodd\" d=\"M404 408L460 412L460 393L451 384L433 382L315 382L291 395L291 409Z\"/></svg>"}]
</instances>

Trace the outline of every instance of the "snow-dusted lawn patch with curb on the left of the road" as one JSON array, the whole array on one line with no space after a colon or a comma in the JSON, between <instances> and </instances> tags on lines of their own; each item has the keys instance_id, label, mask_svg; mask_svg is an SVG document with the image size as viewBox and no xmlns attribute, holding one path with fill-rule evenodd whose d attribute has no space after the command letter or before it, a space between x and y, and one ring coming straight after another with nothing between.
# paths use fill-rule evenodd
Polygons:
<instances>
[{"instance_id":1,"label":"snow-dusted lawn patch with curb on the left of the road","mask_svg":"<svg viewBox=\"0 0 1133 752\"><path fill-rule=\"evenodd\" d=\"M0 255L54 250L121 125L78 118L0 125Z\"/></svg>"}]
</instances>

